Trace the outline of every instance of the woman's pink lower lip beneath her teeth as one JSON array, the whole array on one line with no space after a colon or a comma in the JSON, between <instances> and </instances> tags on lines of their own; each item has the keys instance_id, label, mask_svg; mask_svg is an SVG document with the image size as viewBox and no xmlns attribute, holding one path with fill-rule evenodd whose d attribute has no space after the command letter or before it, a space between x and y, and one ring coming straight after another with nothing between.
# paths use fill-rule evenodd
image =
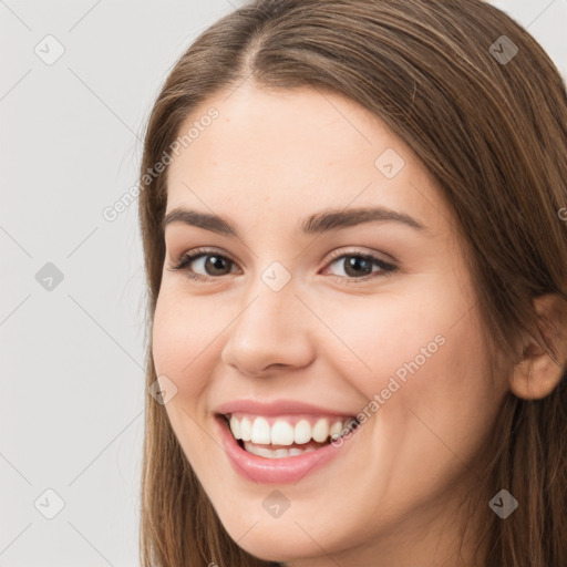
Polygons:
<instances>
[{"instance_id":1,"label":"woman's pink lower lip beneath her teeth","mask_svg":"<svg viewBox=\"0 0 567 567\"><path fill-rule=\"evenodd\" d=\"M349 441L343 439L341 447L329 443L301 455L268 458L252 455L240 447L223 417L216 416L215 421L233 468L240 476L255 483L297 483L321 468L339 453L344 454L346 447L350 445Z\"/></svg>"}]
</instances>

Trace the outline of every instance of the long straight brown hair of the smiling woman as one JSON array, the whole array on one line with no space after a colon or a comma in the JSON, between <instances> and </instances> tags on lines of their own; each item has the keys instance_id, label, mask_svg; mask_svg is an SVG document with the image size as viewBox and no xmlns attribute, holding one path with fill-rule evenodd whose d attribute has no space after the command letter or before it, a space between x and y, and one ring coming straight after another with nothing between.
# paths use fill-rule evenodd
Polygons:
<instances>
[{"instance_id":1,"label":"long straight brown hair of the smiling woman","mask_svg":"<svg viewBox=\"0 0 567 567\"><path fill-rule=\"evenodd\" d=\"M197 105L245 80L329 89L382 118L454 212L487 346L504 354L505 371L526 333L550 349L533 300L567 300L567 94L534 38L481 0L257 0L197 38L169 73L145 136L140 223L148 334L165 254L167 168L156 175L155 165ZM147 342L146 388L156 380ZM503 402L483 483L491 494L506 488L520 505L503 520L487 502L476 503L486 508L477 534L486 566L567 566L566 381L563 369L549 395L508 393ZM277 565L227 535L150 394L145 427L143 565Z\"/></svg>"}]
</instances>

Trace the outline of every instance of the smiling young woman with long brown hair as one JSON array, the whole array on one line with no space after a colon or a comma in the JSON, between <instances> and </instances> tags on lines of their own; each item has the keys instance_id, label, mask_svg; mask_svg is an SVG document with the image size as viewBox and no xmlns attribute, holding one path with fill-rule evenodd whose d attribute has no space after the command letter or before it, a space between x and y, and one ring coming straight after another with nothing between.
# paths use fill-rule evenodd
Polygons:
<instances>
[{"instance_id":1,"label":"smiling young woman with long brown hair","mask_svg":"<svg viewBox=\"0 0 567 567\"><path fill-rule=\"evenodd\" d=\"M143 565L567 566L567 94L480 0L258 0L147 125Z\"/></svg>"}]
</instances>

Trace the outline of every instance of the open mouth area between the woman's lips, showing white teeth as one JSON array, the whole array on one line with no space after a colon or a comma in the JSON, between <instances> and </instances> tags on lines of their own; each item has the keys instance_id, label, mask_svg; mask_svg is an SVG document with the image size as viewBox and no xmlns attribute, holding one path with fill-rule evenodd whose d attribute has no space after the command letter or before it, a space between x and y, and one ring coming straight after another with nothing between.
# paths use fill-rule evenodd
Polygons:
<instances>
[{"instance_id":1,"label":"open mouth area between the woman's lips, showing white teeth","mask_svg":"<svg viewBox=\"0 0 567 567\"><path fill-rule=\"evenodd\" d=\"M244 412L218 416L240 449L266 458L286 458L317 451L360 425L355 416L264 416Z\"/></svg>"}]
</instances>

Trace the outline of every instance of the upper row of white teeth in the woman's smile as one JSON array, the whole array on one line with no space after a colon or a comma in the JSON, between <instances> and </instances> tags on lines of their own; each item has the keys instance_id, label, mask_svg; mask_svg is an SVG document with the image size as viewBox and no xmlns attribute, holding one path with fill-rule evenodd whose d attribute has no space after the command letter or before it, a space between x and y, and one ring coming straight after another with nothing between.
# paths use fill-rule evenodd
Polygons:
<instances>
[{"instance_id":1,"label":"upper row of white teeth in the woman's smile","mask_svg":"<svg viewBox=\"0 0 567 567\"><path fill-rule=\"evenodd\" d=\"M311 426L309 420L300 419L295 425L284 419L278 419L270 426L266 417L237 417L230 416L230 431L237 440L251 441L259 445L305 445L313 440L324 443L329 436L331 441L341 436L350 420L343 423L337 419L329 426L329 419L320 417Z\"/></svg>"}]
</instances>

